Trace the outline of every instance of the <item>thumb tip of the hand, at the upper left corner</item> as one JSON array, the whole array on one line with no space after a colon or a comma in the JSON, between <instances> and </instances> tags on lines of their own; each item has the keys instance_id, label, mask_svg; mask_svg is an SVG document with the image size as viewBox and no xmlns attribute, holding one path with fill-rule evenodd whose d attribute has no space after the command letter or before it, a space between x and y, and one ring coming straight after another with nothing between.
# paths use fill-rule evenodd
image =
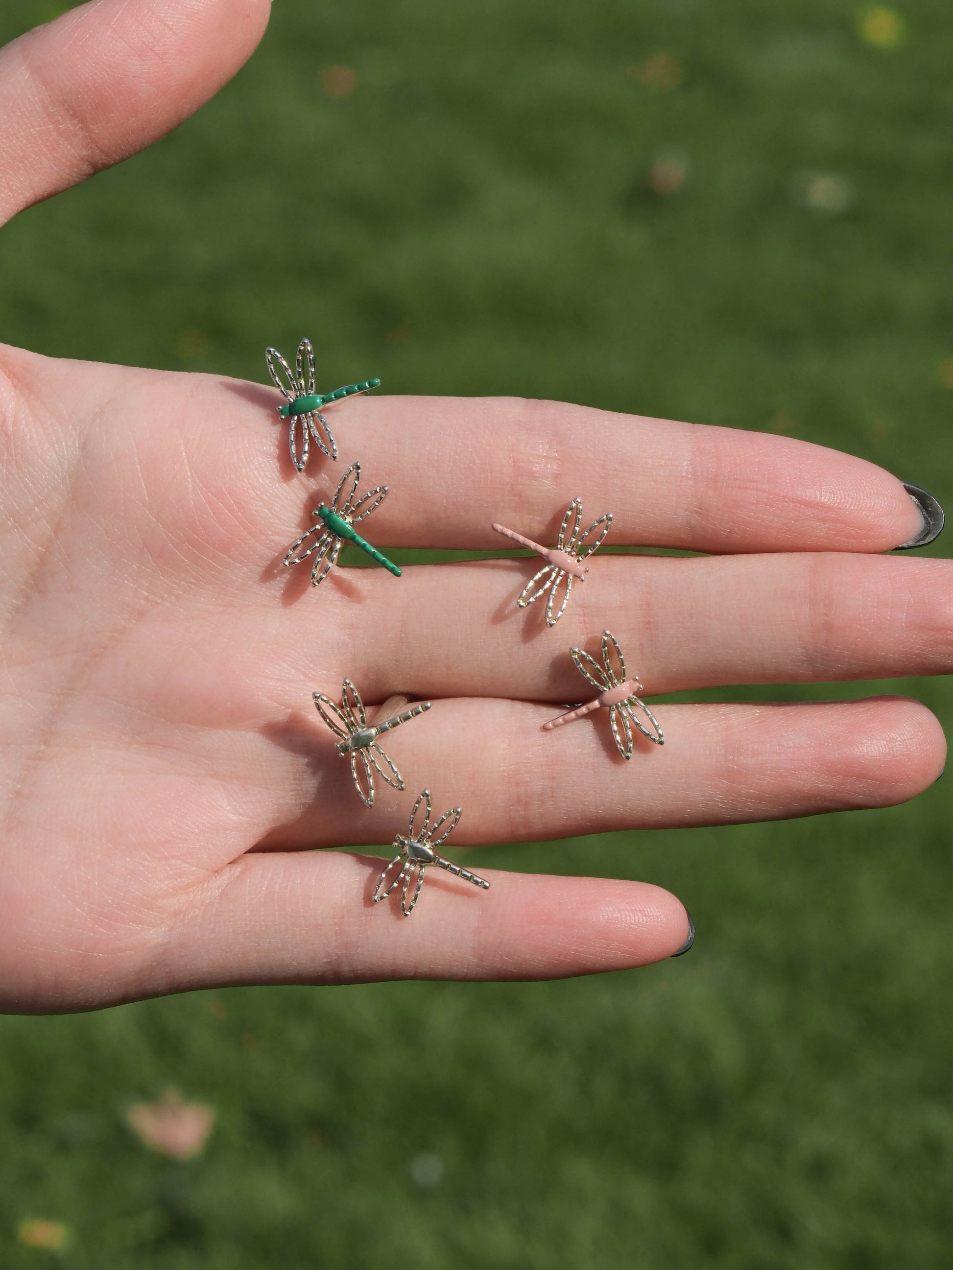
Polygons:
<instances>
[{"instance_id":1,"label":"thumb tip of the hand, at the upper left corner","mask_svg":"<svg viewBox=\"0 0 953 1270\"><path fill-rule=\"evenodd\" d=\"M271 0L91 0L0 50L0 225L151 145L250 57Z\"/></svg>"}]
</instances>

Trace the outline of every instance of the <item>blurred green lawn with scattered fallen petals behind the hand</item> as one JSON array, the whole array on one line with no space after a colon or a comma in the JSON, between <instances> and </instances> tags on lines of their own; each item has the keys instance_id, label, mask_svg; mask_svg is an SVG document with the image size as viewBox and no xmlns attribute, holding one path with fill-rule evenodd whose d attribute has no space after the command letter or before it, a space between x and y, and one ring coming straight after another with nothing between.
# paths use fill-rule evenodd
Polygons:
<instances>
[{"instance_id":1,"label":"blurred green lawn with scattered fallen petals behind the hand","mask_svg":"<svg viewBox=\"0 0 953 1270\"><path fill-rule=\"evenodd\" d=\"M0 338L262 381L306 333L323 385L784 432L949 507L952 72L947 0L281 0L196 119L3 231ZM949 1264L952 795L480 856L671 888L695 950L638 973L3 1019L0 1260ZM216 1113L182 1163L126 1123L170 1086Z\"/></svg>"}]
</instances>

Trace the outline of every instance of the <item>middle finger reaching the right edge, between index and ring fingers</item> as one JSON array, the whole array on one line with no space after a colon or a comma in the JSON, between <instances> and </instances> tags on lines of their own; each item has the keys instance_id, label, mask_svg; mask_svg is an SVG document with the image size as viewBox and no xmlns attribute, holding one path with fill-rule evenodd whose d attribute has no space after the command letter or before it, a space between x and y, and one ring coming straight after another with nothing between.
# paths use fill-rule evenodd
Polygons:
<instances>
[{"instance_id":1,"label":"middle finger reaching the right edge, between index and ring fingers","mask_svg":"<svg viewBox=\"0 0 953 1270\"><path fill-rule=\"evenodd\" d=\"M348 570L347 597L334 594L329 578L320 596L304 594L285 610L282 643L290 634L285 646L300 665L296 650L314 636L315 607L333 607L342 626L355 624L353 638L338 644L338 679L351 676L371 701L396 688L578 700L587 685L568 650L592 652L605 627L648 693L953 669L953 561L835 552L602 556L551 629L545 597L516 606L537 563L419 565L396 584L382 570ZM355 588L363 603L353 603ZM274 617L263 611L262 621L273 649ZM339 683L314 686L333 695Z\"/></svg>"}]
</instances>

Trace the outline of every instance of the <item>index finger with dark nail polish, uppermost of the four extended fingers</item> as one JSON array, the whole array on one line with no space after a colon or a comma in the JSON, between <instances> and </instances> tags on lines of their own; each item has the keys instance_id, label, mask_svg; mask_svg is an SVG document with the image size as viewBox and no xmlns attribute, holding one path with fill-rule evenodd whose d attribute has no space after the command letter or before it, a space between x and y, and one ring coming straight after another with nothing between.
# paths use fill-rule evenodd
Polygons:
<instances>
[{"instance_id":1,"label":"index finger with dark nail polish, uppermost of the four extended fingers","mask_svg":"<svg viewBox=\"0 0 953 1270\"><path fill-rule=\"evenodd\" d=\"M499 549L494 521L551 545L577 497L616 545L889 551L924 526L900 479L790 437L517 398L367 398L334 419L342 458L391 488L380 545Z\"/></svg>"}]
</instances>

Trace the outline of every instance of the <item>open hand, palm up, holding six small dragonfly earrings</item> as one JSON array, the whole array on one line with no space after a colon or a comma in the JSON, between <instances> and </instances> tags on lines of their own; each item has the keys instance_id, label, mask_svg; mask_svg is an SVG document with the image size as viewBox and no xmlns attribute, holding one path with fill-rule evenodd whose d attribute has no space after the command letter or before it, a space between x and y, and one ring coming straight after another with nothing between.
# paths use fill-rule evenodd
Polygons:
<instances>
[{"instance_id":1,"label":"open hand, palm up, holding six small dragonfly earrings","mask_svg":"<svg viewBox=\"0 0 953 1270\"><path fill-rule=\"evenodd\" d=\"M250 55L267 0L95 0L0 55L0 213L168 131ZM263 367L264 370L264 367ZM372 368L368 368L370 373ZM6 1010L76 1010L229 983L545 978L685 941L630 881L437 874L412 921L372 906L417 792L460 804L454 846L882 806L939 775L915 701L671 705L663 748L618 758L568 657L609 626L649 693L950 669L950 566L878 555L920 513L864 462L774 436L518 400L355 398L342 458L286 457L277 394L213 376L0 349ZM391 493L379 547L551 537L581 495L611 541L555 630L515 598L525 560L335 570L283 550L360 458ZM372 533L371 533L372 527ZM349 676L433 709L388 742L407 781L371 810L311 707ZM540 702L549 702L540 704ZM479 869L480 872L487 872Z\"/></svg>"}]
</instances>

